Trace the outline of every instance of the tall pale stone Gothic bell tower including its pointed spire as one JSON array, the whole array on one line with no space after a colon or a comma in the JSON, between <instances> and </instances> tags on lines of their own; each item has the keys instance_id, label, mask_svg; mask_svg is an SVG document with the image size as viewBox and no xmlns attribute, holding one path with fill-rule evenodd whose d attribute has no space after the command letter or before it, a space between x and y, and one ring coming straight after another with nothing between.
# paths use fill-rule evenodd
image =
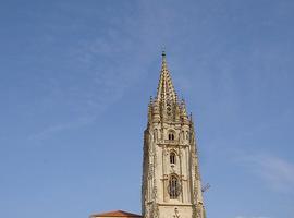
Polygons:
<instances>
[{"instance_id":1,"label":"tall pale stone Gothic bell tower including its pointed spire","mask_svg":"<svg viewBox=\"0 0 294 218\"><path fill-rule=\"evenodd\" d=\"M144 132L142 213L144 218L206 217L194 123L177 99L164 52Z\"/></svg>"}]
</instances>

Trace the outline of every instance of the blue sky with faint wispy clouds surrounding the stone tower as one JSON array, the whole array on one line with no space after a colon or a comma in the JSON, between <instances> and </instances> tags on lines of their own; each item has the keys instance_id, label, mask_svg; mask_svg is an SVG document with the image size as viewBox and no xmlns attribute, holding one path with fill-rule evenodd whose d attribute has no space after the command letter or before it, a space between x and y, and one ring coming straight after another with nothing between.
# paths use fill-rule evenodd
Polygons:
<instances>
[{"instance_id":1,"label":"blue sky with faint wispy clouds surrounding the stone tower","mask_svg":"<svg viewBox=\"0 0 294 218\"><path fill-rule=\"evenodd\" d=\"M294 1L1 1L1 217L140 213L161 47L208 217L294 217Z\"/></svg>"}]
</instances>

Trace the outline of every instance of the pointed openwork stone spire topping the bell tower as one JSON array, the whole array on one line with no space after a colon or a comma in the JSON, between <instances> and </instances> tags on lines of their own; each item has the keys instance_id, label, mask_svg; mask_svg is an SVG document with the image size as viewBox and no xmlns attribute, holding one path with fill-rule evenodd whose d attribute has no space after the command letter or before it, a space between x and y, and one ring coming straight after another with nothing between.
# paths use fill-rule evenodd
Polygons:
<instances>
[{"instance_id":1,"label":"pointed openwork stone spire topping the bell tower","mask_svg":"<svg viewBox=\"0 0 294 218\"><path fill-rule=\"evenodd\" d=\"M157 100L163 102L176 102L176 93L172 84L164 51L162 51L162 64L157 88Z\"/></svg>"}]
</instances>

